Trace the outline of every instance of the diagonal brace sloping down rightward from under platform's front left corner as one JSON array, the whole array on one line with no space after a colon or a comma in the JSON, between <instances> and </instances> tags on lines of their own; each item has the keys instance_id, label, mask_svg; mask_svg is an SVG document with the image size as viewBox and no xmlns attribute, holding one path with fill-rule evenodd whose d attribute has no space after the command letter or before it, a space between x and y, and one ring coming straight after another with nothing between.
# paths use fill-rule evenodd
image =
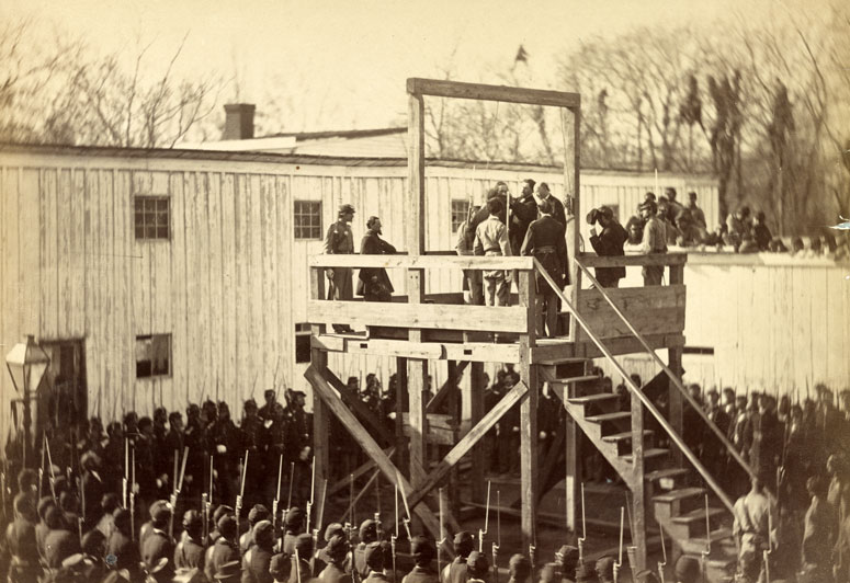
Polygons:
<instances>
[{"instance_id":1,"label":"diagonal brace sloping down rightward from under platform's front left corner","mask_svg":"<svg viewBox=\"0 0 850 583\"><path fill-rule=\"evenodd\" d=\"M384 450L375 443L375 439L372 438L358 418L355 418L342 400L337 397L336 391L321 373L310 365L304 373L304 377L310 382L316 395L322 400L328 409L330 409L330 411L342 422L354 441L358 442L358 445L363 448L363 451L375 461L381 473L384 475L389 483L397 484L409 499L409 494L413 492L413 487L410 485L410 482L404 476L401 476L399 469L393 464L389 457L384 454ZM421 496L419 500L421 500ZM431 512L426 504L410 503L410 510L422 521L422 524L429 533L431 533L431 536L433 536L434 539L439 539L440 521L434 513ZM443 549L450 553L450 556L454 556L454 550L451 545L444 545Z\"/></svg>"}]
</instances>

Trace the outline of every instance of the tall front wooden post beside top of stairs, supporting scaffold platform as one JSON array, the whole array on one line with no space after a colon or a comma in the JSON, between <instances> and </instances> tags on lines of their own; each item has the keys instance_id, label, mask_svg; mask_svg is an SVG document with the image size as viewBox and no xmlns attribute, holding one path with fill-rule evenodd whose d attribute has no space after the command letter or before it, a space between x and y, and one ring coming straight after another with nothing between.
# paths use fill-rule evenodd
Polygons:
<instances>
[{"instance_id":1,"label":"tall front wooden post beside top of stairs, supporting scaffold platform","mask_svg":"<svg viewBox=\"0 0 850 583\"><path fill-rule=\"evenodd\" d=\"M531 362L536 345L534 272L520 272L520 306L528 309L528 333L520 335L520 378L529 391L520 401L520 480L522 488L522 548L536 545L537 523L537 366Z\"/></svg>"}]
</instances>

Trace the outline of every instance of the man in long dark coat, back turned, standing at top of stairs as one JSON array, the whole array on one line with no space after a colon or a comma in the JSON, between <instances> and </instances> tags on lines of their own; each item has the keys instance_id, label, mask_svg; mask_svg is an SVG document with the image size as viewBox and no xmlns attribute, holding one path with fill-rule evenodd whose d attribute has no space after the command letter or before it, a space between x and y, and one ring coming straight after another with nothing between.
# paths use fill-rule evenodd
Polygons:
<instances>
[{"instance_id":1,"label":"man in long dark coat, back turned, standing at top of stairs","mask_svg":"<svg viewBox=\"0 0 850 583\"><path fill-rule=\"evenodd\" d=\"M537 208L541 217L529 226L521 254L534 256L560 290L569 284L565 227L552 218L552 203L541 201ZM557 335L558 297L542 275L537 275L536 287L537 334L548 333L549 338L554 338Z\"/></svg>"}]
</instances>

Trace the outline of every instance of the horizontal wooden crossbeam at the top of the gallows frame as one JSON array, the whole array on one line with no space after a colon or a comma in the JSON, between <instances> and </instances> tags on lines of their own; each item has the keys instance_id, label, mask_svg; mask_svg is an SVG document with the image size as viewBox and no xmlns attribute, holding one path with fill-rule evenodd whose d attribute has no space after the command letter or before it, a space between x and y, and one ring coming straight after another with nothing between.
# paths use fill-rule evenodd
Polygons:
<instances>
[{"instance_id":1,"label":"horizontal wooden crossbeam at the top of the gallows frame","mask_svg":"<svg viewBox=\"0 0 850 583\"><path fill-rule=\"evenodd\" d=\"M509 103L548 105L553 107L573 108L578 107L581 104L581 96L578 93L567 93L566 91L487 85L483 83L462 83L458 81L442 81L416 77L408 78L407 92L413 95L503 101Z\"/></svg>"}]
</instances>

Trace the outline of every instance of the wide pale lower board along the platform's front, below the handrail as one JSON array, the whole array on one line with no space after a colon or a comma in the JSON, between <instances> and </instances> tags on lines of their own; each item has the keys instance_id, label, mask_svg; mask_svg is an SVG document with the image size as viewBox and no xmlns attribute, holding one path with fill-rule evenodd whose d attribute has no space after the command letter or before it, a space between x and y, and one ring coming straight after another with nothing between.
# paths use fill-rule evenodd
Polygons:
<instances>
[{"instance_id":1,"label":"wide pale lower board along the platform's front, below the handrail","mask_svg":"<svg viewBox=\"0 0 850 583\"><path fill-rule=\"evenodd\" d=\"M311 322L358 325L524 332L525 310L517 307L440 306L369 301L307 301Z\"/></svg>"}]
</instances>

